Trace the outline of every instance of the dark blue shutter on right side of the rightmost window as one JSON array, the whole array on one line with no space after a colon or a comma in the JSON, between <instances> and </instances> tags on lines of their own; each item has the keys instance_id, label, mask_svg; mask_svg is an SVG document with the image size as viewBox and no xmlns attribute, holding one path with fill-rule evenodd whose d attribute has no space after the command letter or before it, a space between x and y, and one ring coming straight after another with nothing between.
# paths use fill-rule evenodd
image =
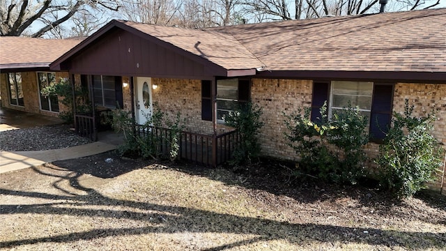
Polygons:
<instances>
[{"instance_id":1,"label":"dark blue shutter on right side of the rightmost window","mask_svg":"<svg viewBox=\"0 0 446 251\"><path fill-rule=\"evenodd\" d=\"M392 101L394 84L374 85L374 96L371 102L370 139L382 142L390 128L392 119Z\"/></svg>"}]
</instances>

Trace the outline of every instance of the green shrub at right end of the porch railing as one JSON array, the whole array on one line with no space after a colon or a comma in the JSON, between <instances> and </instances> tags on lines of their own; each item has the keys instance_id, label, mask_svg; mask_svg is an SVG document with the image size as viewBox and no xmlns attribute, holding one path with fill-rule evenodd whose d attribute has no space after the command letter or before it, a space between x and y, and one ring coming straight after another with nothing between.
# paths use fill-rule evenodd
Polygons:
<instances>
[{"instance_id":1,"label":"green shrub at right end of the porch railing","mask_svg":"<svg viewBox=\"0 0 446 251\"><path fill-rule=\"evenodd\" d=\"M263 114L259 105L252 102L238 105L234 112L229 112L224 117L226 126L231 126L238 131L239 144L233 151L233 158L230 165L237 167L241 164L250 164L254 158L259 157L260 144L259 132L263 126L260 117Z\"/></svg>"}]
</instances>

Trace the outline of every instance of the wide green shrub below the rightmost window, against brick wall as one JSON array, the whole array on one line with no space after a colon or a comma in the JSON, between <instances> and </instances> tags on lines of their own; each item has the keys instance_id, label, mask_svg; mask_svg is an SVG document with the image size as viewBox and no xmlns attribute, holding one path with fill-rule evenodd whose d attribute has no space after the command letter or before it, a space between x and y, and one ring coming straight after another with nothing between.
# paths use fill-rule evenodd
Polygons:
<instances>
[{"instance_id":1,"label":"wide green shrub below the rightmost window, against brick wall","mask_svg":"<svg viewBox=\"0 0 446 251\"><path fill-rule=\"evenodd\" d=\"M318 123L311 121L311 109L286 115L289 146L300 156L295 175L316 176L334 183L357 183L365 176L367 156L363 146L368 142L367 118L348 104L328 119L327 103L320 110Z\"/></svg>"}]
</instances>

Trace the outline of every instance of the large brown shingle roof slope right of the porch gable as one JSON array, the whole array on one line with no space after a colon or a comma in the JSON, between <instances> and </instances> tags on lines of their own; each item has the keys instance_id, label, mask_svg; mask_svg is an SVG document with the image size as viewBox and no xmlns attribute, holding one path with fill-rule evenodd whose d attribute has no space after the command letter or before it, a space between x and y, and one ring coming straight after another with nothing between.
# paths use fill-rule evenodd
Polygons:
<instances>
[{"instance_id":1,"label":"large brown shingle roof slope right of the porch gable","mask_svg":"<svg viewBox=\"0 0 446 251\"><path fill-rule=\"evenodd\" d=\"M268 70L446 72L446 8L206 29Z\"/></svg>"}]
</instances>

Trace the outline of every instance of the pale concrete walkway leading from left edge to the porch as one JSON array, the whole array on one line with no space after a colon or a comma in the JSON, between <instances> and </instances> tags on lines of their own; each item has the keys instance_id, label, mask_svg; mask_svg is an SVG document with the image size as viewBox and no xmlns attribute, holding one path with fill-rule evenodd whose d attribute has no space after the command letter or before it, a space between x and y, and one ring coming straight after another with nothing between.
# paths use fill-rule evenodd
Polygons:
<instances>
[{"instance_id":1,"label":"pale concrete walkway leading from left edge to the porch","mask_svg":"<svg viewBox=\"0 0 446 251\"><path fill-rule=\"evenodd\" d=\"M70 160L116 149L116 144L93 142L66 149L45 151L0 151L0 174L15 170L36 167L57 160Z\"/></svg>"}]
</instances>

